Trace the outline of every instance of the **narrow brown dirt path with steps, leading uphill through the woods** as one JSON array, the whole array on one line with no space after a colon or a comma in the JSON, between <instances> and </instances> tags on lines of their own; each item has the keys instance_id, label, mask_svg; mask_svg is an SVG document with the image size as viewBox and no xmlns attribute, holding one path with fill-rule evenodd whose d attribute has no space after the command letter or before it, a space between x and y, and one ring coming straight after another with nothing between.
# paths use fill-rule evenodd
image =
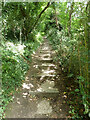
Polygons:
<instances>
[{"instance_id":1,"label":"narrow brown dirt path with steps, leading uphill through the woods","mask_svg":"<svg viewBox=\"0 0 90 120\"><path fill-rule=\"evenodd\" d=\"M45 39L37 52L26 80L14 101L9 103L6 118L66 118L65 86L58 66L53 62L54 51Z\"/></svg>"}]
</instances>

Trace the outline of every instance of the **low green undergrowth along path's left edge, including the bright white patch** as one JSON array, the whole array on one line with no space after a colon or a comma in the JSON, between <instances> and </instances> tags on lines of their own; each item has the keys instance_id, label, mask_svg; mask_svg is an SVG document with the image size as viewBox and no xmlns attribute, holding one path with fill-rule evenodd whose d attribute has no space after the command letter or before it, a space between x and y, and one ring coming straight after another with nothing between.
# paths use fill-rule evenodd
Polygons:
<instances>
[{"instance_id":1,"label":"low green undergrowth along path's left edge, including the bright white patch","mask_svg":"<svg viewBox=\"0 0 90 120\"><path fill-rule=\"evenodd\" d=\"M42 36L36 36L36 41L15 43L10 41L1 42L2 51L2 89L0 90L0 118L4 118L7 104L13 100L13 95L18 92L25 80L25 74L31 62L33 54L40 43ZM28 62L29 61L29 62Z\"/></svg>"}]
</instances>

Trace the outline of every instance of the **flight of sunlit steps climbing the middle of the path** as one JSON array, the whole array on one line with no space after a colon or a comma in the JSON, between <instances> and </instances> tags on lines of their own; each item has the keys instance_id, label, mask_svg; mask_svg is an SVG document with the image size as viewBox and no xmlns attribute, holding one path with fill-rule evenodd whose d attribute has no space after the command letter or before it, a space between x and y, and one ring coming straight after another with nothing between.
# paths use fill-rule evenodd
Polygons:
<instances>
[{"instance_id":1,"label":"flight of sunlit steps climbing the middle of the path","mask_svg":"<svg viewBox=\"0 0 90 120\"><path fill-rule=\"evenodd\" d=\"M36 90L30 90L30 95L44 95L45 94L58 94L59 91L57 88L55 88L55 76L56 76L56 66L53 64L52 59L52 50L48 45L48 42L45 42L41 45L39 48L40 51L37 55L34 54L34 57L36 57L39 65L40 71L35 76L36 84L39 84L39 87ZM34 67L37 66L37 63L34 64ZM34 79L34 77L33 77ZM50 95L50 96L51 96Z\"/></svg>"}]
</instances>

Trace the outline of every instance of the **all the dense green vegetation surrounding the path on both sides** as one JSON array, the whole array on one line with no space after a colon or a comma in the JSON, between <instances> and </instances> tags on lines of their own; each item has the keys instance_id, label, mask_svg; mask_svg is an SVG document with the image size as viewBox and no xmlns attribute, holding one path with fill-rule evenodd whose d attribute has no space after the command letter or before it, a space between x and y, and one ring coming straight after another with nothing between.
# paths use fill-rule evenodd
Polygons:
<instances>
[{"instance_id":1,"label":"all the dense green vegetation surrounding the path on both sides","mask_svg":"<svg viewBox=\"0 0 90 120\"><path fill-rule=\"evenodd\" d=\"M0 116L15 91L21 87L43 36L47 36L67 78L72 96L72 118L89 116L89 26L90 3L2 4L2 102ZM1 94L1 93L0 93ZM79 103L79 105L78 105Z\"/></svg>"}]
</instances>

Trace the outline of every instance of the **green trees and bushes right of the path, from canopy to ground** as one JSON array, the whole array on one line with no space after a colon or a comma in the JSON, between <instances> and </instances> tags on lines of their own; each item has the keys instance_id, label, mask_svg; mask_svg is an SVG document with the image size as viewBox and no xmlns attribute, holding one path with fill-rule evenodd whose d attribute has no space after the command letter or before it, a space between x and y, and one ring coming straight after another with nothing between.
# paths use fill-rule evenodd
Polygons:
<instances>
[{"instance_id":1,"label":"green trees and bushes right of the path, from canopy to ground","mask_svg":"<svg viewBox=\"0 0 90 120\"><path fill-rule=\"evenodd\" d=\"M89 78L88 78L88 45L87 41L89 37L87 37L87 28L86 25L87 15L86 15L86 4L84 3L75 3L71 19L70 10L71 3L56 3L57 10L57 20L58 23L63 26L63 30L59 31L55 27L52 27L49 23L52 20L55 21L55 12L52 10L50 14L54 14L52 18L47 18L46 26L48 30L47 38L50 40L50 44L52 44L53 49L56 51L57 56L55 57L55 61L60 63L62 71L67 74L68 78L77 79L77 83L79 88L75 89L75 92L79 92L82 96L82 105L84 106L83 118L85 115L89 114ZM77 8L78 7L78 8ZM60 13L59 13L59 12ZM71 20L71 26L70 21ZM70 29L71 33L68 35L68 30ZM87 32L86 32L87 31ZM86 37L85 37L86 36ZM72 108L71 113L74 115L74 118L80 118L80 115L77 113L78 111L75 108ZM72 117L72 118L73 118Z\"/></svg>"}]
</instances>

